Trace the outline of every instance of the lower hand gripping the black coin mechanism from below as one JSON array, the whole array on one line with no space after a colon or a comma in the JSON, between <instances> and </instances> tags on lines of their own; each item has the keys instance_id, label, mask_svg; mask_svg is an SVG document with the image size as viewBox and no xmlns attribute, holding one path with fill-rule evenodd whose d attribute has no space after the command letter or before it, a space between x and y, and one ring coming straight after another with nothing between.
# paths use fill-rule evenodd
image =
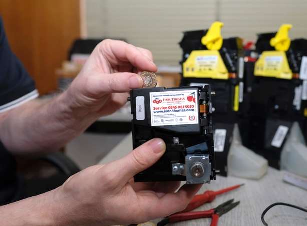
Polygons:
<instances>
[{"instance_id":1,"label":"lower hand gripping the black coin mechanism from below","mask_svg":"<svg viewBox=\"0 0 307 226\"><path fill-rule=\"evenodd\" d=\"M141 223L185 209L200 185L133 183L132 177L153 165L165 143L152 139L126 157L91 166L70 177L56 192L55 225L119 225Z\"/></svg>"}]
</instances>

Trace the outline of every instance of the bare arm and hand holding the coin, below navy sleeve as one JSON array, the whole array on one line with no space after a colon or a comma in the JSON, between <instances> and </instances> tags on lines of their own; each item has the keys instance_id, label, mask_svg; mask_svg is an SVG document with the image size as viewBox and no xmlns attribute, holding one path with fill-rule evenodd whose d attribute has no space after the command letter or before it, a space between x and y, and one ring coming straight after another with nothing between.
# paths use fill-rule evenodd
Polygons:
<instances>
[{"instance_id":1,"label":"bare arm and hand holding the coin, below navy sleeve","mask_svg":"<svg viewBox=\"0 0 307 226\"><path fill-rule=\"evenodd\" d=\"M30 101L0 114L0 140L15 154L57 150L141 88L139 71L156 71L148 50L105 40L71 86L49 101Z\"/></svg>"}]
</instances>

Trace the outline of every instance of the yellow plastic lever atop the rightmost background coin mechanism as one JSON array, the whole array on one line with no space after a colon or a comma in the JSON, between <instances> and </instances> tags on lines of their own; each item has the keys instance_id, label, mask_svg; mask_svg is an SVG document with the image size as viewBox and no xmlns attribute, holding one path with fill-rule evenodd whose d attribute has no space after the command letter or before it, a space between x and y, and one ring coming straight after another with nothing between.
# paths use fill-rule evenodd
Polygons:
<instances>
[{"instance_id":1,"label":"yellow plastic lever atop the rightmost background coin mechanism","mask_svg":"<svg viewBox=\"0 0 307 226\"><path fill-rule=\"evenodd\" d=\"M270 40L271 46L275 47L275 50L287 51L290 47L291 40L289 38L289 30L292 28L290 24L283 24L280 26L277 34Z\"/></svg>"}]
</instances>

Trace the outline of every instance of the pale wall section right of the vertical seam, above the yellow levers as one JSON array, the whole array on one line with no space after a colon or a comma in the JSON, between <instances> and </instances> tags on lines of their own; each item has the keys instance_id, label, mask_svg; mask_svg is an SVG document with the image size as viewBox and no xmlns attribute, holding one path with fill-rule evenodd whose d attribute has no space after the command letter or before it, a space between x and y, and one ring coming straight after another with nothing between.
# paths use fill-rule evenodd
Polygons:
<instances>
[{"instance_id":1,"label":"pale wall section right of the vertical seam, above the yellow levers","mask_svg":"<svg viewBox=\"0 0 307 226\"><path fill-rule=\"evenodd\" d=\"M256 40L256 34L277 31L281 24L292 24L291 38L307 38L306 0L220 0L223 36Z\"/></svg>"}]
</instances>

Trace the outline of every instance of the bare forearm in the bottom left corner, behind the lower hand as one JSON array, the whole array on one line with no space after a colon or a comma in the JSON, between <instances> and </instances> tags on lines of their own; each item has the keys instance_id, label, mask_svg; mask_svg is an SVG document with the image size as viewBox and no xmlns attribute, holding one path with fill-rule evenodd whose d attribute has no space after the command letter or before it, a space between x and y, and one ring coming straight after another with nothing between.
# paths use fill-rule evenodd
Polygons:
<instances>
[{"instance_id":1,"label":"bare forearm in the bottom left corner, behind the lower hand","mask_svg":"<svg viewBox=\"0 0 307 226\"><path fill-rule=\"evenodd\" d=\"M70 198L62 187L49 192L0 206L1 225L70 226L80 212L67 204Z\"/></svg>"}]
</instances>

